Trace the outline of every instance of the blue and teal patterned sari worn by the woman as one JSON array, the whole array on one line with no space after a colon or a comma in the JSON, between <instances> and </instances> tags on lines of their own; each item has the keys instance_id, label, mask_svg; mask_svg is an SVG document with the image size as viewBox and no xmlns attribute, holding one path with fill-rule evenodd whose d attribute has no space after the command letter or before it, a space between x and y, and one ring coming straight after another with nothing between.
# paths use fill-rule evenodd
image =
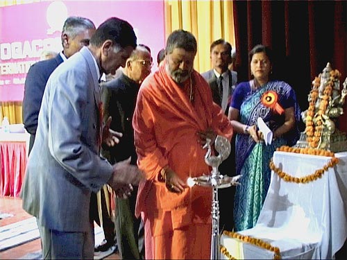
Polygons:
<instances>
[{"instance_id":1,"label":"blue and teal patterned sari worn by the woman","mask_svg":"<svg viewBox=\"0 0 347 260\"><path fill-rule=\"evenodd\" d=\"M239 121L246 125L257 125L261 117L272 131L285 122L285 115L273 112L262 104L262 95L267 91L278 94L278 103L283 109L294 107L296 121L300 120L300 109L294 90L285 82L271 81L256 91L250 84L240 83L235 89L231 106L239 109ZM239 105L238 105L239 104ZM249 229L257 223L266 193L269 189L271 169L269 162L276 148L293 145L298 140L298 127L286 135L273 139L271 145L264 141L256 143L250 135L236 137L236 172L241 174L240 185L236 188L234 200L235 231Z\"/></svg>"}]
</instances>

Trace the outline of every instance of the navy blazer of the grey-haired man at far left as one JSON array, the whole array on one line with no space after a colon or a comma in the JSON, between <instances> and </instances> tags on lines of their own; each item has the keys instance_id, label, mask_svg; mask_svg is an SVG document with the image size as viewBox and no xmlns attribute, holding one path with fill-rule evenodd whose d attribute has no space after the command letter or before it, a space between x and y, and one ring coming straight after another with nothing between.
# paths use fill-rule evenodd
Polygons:
<instances>
[{"instance_id":1,"label":"navy blazer of the grey-haired man at far left","mask_svg":"<svg viewBox=\"0 0 347 260\"><path fill-rule=\"evenodd\" d=\"M62 62L62 57L58 54L56 58L36 62L30 67L26 74L22 114L24 128L30 134L29 153L35 141L37 119L40 112L44 88L46 87L47 80L49 76L51 76L51 73Z\"/></svg>"}]
</instances>

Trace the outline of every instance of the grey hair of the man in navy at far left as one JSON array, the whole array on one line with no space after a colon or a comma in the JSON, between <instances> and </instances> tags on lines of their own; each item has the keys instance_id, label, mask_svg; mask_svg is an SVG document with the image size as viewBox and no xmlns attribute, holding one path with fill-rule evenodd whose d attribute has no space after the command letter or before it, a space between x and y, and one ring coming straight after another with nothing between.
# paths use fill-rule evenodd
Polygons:
<instances>
[{"instance_id":1,"label":"grey hair of the man in navy at far left","mask_svg":"<svg viewBox=\"0 0 347 260\"><path fill-rule=\"evenodd\" d=\"M79 33L86 29L96 29L94 23L85 17L70 16L64 22L62 26L62 35L67 34L71 39L76 37ZM62 39L62 43L64 40Z\"/></svg>"}]
</instances>

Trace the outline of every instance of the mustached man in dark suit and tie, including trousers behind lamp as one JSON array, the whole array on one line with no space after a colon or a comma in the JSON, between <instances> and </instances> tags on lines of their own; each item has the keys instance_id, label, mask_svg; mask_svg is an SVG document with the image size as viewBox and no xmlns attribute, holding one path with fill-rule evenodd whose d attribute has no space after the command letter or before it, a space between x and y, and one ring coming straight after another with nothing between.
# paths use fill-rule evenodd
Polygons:
<instances>
[{"instance_id":1,"label":"mustached man in dark suit and tie, including trousers behind lamp","mask_svg":"<svg viewBox=\"0 0 347 260\"><path fill-rule=\"evenodd\" d=\"M237 83L237 72L230 71L228 65L232 60L232 47L223 39L212 42L210 46L210 59L213 69L201 73L212 90L214 103L217 103L223 112L228 115L230 100ZM219 77L222 78L219 78ZM221 83L219 80L221 79ZM228 158L219 166L223 175L235 175L235 137L232 137L232 149ZM220 229L232 231L234 217L232 203L235 195L235 187L218 190L219 196L219 227Z\"/></svg>"}]
</instances>

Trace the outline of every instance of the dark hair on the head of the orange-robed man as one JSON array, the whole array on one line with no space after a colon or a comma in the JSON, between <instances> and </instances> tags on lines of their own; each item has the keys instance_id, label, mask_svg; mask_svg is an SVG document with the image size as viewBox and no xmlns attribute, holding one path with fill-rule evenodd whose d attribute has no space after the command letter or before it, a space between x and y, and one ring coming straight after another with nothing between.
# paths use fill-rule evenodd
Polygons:
<instances>
[{"instance_id":1,"label":"dark hair on the head of the orange-robed man","mask_svg":"<svg viewBox=\"0 0 347 260\"><path fill-rule=\"evenodd\" d=\"M194 51L194 53L196 53L197 45L196 39L192 33L184 30L176 30L167 37L165 54L172 53L176 48L185 49L185 51Z\"/></svg>"}]
</instances>

